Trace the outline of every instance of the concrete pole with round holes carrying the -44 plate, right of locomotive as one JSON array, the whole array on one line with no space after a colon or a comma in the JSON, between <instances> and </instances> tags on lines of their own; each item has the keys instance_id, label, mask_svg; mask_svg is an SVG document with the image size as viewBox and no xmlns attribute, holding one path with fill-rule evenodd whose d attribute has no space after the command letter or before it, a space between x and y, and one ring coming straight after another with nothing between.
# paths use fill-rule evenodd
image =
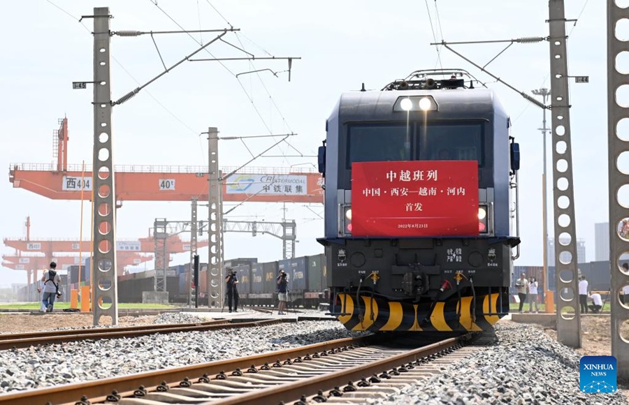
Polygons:
<instances>
[{"instance_id":1,"label":"concrete pole with round holes carrying the -44 plate, right of locomotive","mask_svg":"<svg viewBox=\"0 0 629 405\"><path fill-rule=\"evenodd\" d=\"M557 339L581 347L581 313L577 279L577 233L574 218L570 100L568 99L565 9L563 0L549 1L551 128L557 286ZM564 242L560 242L563 240ZM559 260L564 253L563 263Z\"/></svg>"}]
</instances>

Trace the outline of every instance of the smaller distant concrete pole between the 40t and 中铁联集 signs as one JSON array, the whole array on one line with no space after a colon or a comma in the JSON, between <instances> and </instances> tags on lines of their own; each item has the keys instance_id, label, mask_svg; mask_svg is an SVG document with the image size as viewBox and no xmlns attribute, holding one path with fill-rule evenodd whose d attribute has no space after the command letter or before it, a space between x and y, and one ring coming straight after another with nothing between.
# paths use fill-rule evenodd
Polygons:
<instances>
[{"instance_id":1,"label":"smaller distant concrete pole between the 40t and \u4e2d\u94c1\u8054\u96c6 signs","mask_svg":"<svg viewBox=\"0 0 629 405\"><path fill-rule=\"evenodd\" d=\"M208 128L208 307L223 306L223 195L218 129Z\"/></svg>"}]
</instances>

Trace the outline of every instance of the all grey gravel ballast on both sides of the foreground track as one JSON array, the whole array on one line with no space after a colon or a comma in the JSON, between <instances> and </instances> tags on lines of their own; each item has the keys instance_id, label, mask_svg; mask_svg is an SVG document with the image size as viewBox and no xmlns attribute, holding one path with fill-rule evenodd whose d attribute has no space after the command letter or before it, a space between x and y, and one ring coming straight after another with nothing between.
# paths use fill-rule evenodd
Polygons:
<instances>
[{"instance_id":1,"label":"all grey gravel ballast on both sides of the foreground track","mask_svg":"<svg viewBox=\"0 0 629 405\"><path fill-rule=\"evenodd\" d=\"M162 314L154 323L196 323ZM225 360L360 335L338 321L154 334L0 351L0 393ZM496 344L443 367L442 374L369 404L627 404L623 395L579 391L581 355L539 327L499 323ZM428 365L428 367L430 367Z\"/></svg>"}]
</instances>

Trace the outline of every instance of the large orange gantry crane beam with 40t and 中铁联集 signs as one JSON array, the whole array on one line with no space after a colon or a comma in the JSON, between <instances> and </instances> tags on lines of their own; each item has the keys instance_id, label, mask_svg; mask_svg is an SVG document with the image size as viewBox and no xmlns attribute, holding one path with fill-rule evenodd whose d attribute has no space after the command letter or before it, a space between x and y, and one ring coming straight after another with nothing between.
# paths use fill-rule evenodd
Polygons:
<instances>
[{"instance_id":1,"label":"large orange gantry crane beam with 40t and \u4e2d\u94c1\u8054\u96c6 signs","mask_svg":"<svg viewBox=\"0 0 629 405\"><path fill-rule=\"evenodd\" d=\"M68 165L68 119L59 119L53 133L57 167L41 163L11 163L9 182L53 200L91 200L92 168ZM228 175L236 168L223 168ZM178 165L115 165L115 200L199 201L208 200L208 168ZM224 201L324 202L318 172L299 168L247 168L233 172L222 182ZM81 192L83 191L83 193ZM87 191L87 192L86 192Z\"/></svg>"}]
</instances>

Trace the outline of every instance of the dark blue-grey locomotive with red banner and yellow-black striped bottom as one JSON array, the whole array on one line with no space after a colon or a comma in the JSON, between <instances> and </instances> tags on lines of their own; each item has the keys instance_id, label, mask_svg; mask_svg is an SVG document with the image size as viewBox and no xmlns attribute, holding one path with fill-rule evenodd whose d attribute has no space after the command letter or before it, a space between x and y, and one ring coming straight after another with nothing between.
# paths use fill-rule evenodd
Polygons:
<instances>
[{"instance_id":1,"label":"dark blue-grey locomotive with red banner and yellow-black striped bottom","mask_svg":"<svg viewBox=\"0 0 629 405\"><path fill-rule=\"evenodd\" d=\"M326 120L318 163L330 311L347 329L444 336L509 312L520 152L491 89L461 69L363 84Z\"/></svg>"}]
</instances>

